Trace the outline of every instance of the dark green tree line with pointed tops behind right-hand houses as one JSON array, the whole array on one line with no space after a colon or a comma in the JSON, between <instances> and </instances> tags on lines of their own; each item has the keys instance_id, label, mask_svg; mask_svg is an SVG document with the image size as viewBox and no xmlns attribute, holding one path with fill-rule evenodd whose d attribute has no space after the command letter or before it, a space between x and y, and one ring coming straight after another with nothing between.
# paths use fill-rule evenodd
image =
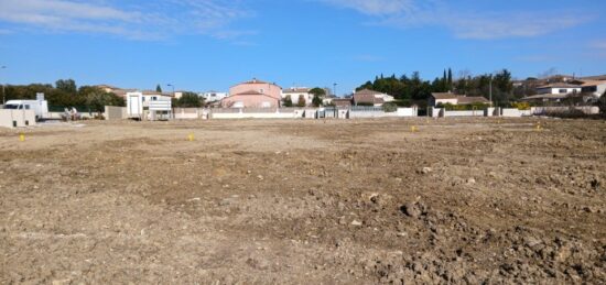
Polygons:
<instances>
[{"instance_id":1,"label":"dark green tree line with pointed tops behind right-hand houses","mask_svg":"<svg viewBox=\"0 0 606 285\"><path fill-rule=\"evenodd\" d=\"M443 76L436 77L432 81L421 78L419 72L410 76L402 75L397 77L394 74L385 77L382 74L376 76L375 80L366 81L356 88L371 89L393 96L399 102L423 103L426 102L432 92L451 91L456 95L484 96L489 97L490 80L493 81L493 100L498 103L507 103L527 96L529 91L515 91L511 73L508 69L501 69L496 74L483 74L470 76L461 75L453 78L451 68L444 69Z\"/></svg>"}]
</instances>

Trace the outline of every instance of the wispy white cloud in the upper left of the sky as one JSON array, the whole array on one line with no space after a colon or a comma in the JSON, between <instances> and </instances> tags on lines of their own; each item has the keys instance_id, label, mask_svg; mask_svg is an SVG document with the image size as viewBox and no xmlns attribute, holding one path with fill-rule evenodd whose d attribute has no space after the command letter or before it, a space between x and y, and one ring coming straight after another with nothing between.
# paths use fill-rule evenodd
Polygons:
<instances>
[{"instance_id":1,"label":"wispy white cloud in the upper left of the sky","mask_svg":"<svg viewBox=\"0 0 606 285\"><path fill-rule=\"evenodd\" d=\"M119 4L118 4L119 3ZM207 34L226 39L234 21L249 17L236 1L149 0L0 0L0 22L37 31L111 34L134 40L160 40L174 34Z\"/></svg>"}]
</instances>

